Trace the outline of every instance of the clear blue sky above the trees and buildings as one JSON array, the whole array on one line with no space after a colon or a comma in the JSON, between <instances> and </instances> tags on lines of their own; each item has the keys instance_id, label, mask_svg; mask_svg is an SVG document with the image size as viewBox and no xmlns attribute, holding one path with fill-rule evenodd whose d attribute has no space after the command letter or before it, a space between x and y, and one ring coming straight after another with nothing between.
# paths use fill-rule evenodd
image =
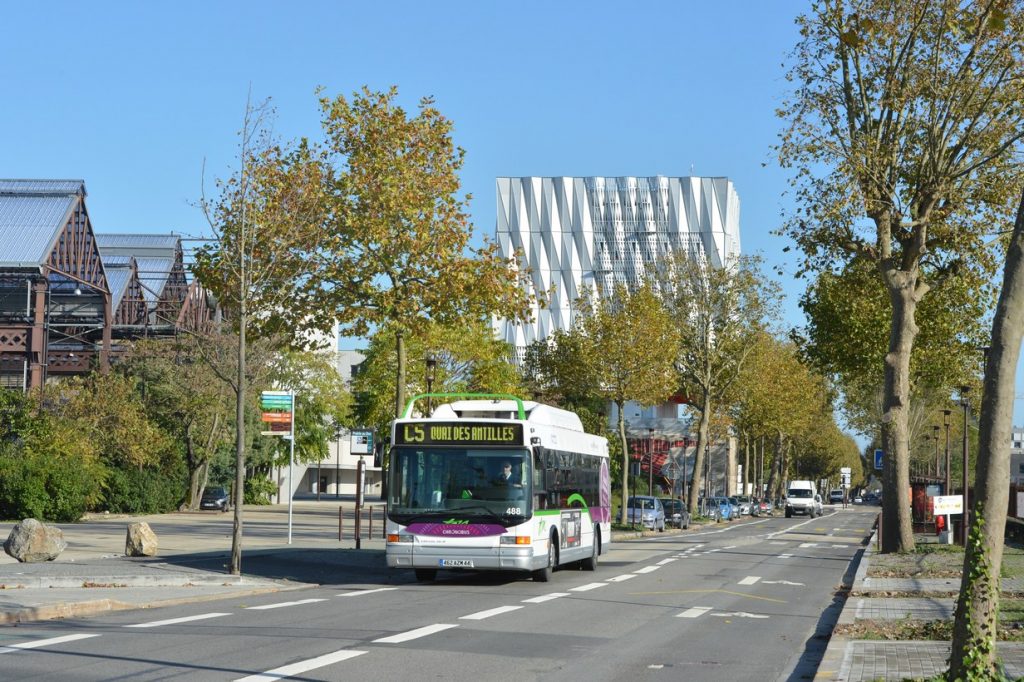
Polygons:
<instances>
[{"instance_id":1,"label":"clear blue sky above the trees and buildings","mask_svg":"<svg viewBox=\"0 0 1024 682\"><path fill-rule=\"evenodd\" d=\"M9 3L0 177L84 179L97 231L198 233L204 160L208 182L230 172L250 84L285 138L318 136L317 86L397 85L455 122L483 233L500 175L728 176L742 250L781 268L799 324L771 145L806 5Z\"/></svg>"}]
</instances>

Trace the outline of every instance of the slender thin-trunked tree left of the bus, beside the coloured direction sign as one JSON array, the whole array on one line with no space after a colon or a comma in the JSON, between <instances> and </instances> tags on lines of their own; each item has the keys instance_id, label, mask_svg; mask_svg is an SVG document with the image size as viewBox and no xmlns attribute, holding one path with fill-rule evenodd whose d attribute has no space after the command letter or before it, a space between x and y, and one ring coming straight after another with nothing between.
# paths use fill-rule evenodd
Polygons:
<instances>
[{"instance_id":1,"label":"slender thin-trunked tree left of the bus, beside the coloured direction sign","mask_svg":"<svg viewBox=\"0 0 1024 682\"><path fill-rule=\"evenodd\" d=\"M311 304L300 284L305 254L323 236L323 164L302 141L283 146L267 133L267 103L246 102L240 133L241 168L218 181L218 197L201 207L213 240L197 249L193 272L217 297L234 326L238 352L233 377L222 375L234 391L234 521L232 574L242 572L242 509L245 496L248 334L269 338L312 326Z\"/></svg>"}]
</instances>

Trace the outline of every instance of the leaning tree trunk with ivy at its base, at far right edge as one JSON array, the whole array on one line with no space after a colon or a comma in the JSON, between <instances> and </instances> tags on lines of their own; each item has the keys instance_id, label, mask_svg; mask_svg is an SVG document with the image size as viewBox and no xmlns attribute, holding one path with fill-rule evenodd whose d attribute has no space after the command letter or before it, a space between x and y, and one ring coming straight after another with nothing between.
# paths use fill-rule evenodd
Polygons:
<instances>
[{"instance_id":1,"label":"leaning tree trunk with ivy at its base, at far right edge","mask_svg":"<svg viewBox=\"0 0 1024 682\"><path fill-rule=\"evenodd\" d=\"M1024 338L1024 193L1002 271L1002 291L992 321L979 413L978 464L973 524L964 554L953 621L949 679L996 679L995 619L1010 491L1010 441L1014 391Z\"/></svg>"}]
</instances>

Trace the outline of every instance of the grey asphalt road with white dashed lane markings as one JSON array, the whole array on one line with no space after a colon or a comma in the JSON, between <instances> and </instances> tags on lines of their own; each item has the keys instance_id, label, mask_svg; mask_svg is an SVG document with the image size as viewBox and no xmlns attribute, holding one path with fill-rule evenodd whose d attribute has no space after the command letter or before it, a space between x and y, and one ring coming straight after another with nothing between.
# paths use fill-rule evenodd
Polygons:
<instances>
[{"instance_id":1,"label":"grey asphalt road with white dashed lane markings","mask_svg":"<svg viewBox=\"0 0 1024 682\"><path fill-rule=\"evenodd\" d=\"M547 584L418 584L381 560L310 590L34 623L0 631L0 678L810 679L876 511L615 543Z\"/></svg>"}]
</instances>

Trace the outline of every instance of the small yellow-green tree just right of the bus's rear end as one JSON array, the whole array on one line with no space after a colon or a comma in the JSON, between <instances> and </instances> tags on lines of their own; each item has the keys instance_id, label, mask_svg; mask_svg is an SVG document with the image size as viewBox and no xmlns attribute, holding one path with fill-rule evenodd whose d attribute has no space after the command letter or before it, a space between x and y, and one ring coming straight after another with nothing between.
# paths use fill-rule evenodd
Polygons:
<instances>
[{"instance_id":1,"label":"small yellow-green tree just right of the bus's rear end","mask_svg":"<svg viewBox=\"0 0 1024 682\"><path fill-rule=\"evenodd\" d=\"M622 507L620 522L627 522L629 445L626 441L626 402L656 404L672 393L675 376L672 361L678 343L672 318L649 286L630 292L616 285L597 297L588 292L577 303L579 315L566 337L582 350L594 382L590 392L615 404L618 412L618 442L623 452Z\"/></svg>"}]
</instances>

